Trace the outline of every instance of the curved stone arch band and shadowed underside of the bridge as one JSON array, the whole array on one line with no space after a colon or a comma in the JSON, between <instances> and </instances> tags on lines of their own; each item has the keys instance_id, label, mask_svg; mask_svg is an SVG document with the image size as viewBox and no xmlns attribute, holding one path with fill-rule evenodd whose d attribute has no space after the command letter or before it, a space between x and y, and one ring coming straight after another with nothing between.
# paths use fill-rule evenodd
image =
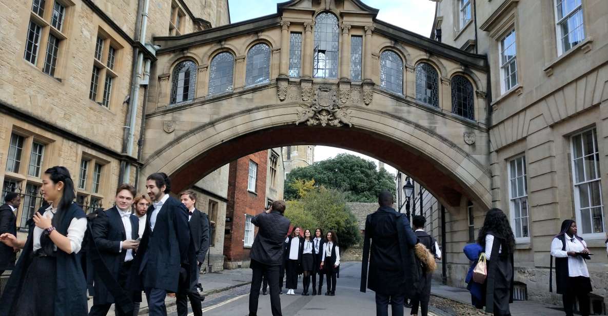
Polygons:
<instances>
[{"instance_id":1,"label":"curved stone arch band and shadowed underside of the bridge","mask_svg":"<svg viewBox=\"0 0 608 316\"><path fill-rule=\"evenodd\" d=\"M352 128L295 126L300 106L258 106L205 123L147 157L141 176L163 171L173 178L176 190L181 190L246 154L269 147L316 143L352 149L395 165L444 205L456 207L465 195L490 207L489 170L434 131L371 108L350 108Z\"/></svg>"}]
</instances>

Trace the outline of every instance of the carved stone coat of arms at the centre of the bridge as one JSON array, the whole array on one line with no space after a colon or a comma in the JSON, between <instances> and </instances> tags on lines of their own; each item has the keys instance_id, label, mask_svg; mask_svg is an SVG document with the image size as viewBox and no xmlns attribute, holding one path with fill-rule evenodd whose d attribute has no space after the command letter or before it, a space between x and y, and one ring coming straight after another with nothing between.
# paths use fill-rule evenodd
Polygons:
<instances>
[{"instance_id":1,"label":"carved stone coat of arms at the centre of the bridge","mask_svg":"<svg viewBox=\"0 0 608 316\"><path fill-rule=\"evenodd\" d=\"M298 110L298 120L295 125L305 123L308 126L344 126L352 127L351 111L340 108L336 97L336 89L330 86L319 86L311 105L303 105Z\"/></svg>"}]
</instances>

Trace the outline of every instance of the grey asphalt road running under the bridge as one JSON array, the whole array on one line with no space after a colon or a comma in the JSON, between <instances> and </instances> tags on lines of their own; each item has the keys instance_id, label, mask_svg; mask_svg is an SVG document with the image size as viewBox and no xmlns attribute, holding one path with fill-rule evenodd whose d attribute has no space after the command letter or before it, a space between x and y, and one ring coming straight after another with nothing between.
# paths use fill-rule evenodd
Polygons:
<instances>
[{"instance_id":1,"label":"grey asphalt road running under the bridge","mask_svg":"<svg viewBox=\"0 0 608 316\"><path fill-rule=\"evenodd\" d=\"M371 316L376 314L374 292L359 292L361 282L361 263L343 263L340 267L340 278L337 281L336 296L302 296L302 280L298 284L296 295L281 295L281 306L284 316ZM325 284L323 284L325 286ZM284 289L285 290L285 289ZM325 292L325 287L323 287ZM249 286L207 297L203 302L205 316L247 316L249 315ZM176 315L174 307L168 311ZM389 309L389 315L390 315ZM405 315L409 315L406 309ZM192 314L190 314L192 315ZM271 315L270 295L260 295L258 315Z\"/></svg>"}]
</instances>

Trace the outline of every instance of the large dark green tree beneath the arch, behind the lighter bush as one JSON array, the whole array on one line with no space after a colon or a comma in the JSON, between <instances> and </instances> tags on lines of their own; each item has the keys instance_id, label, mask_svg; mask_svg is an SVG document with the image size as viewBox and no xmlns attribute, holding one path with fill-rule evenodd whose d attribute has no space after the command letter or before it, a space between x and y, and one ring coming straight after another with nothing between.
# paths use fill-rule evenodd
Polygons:
<instances>
[{"instance_id":1,"label":"large dark green tree beneath the arch, behind the lighter bush","mask_svg":"<svg viewBox=\"0 0 608 316\"><path fill-rule=\"evenodd\" d=\"M333 188L345 193L348 202L376 202L378 193L387 189L395 194L392 174L370 160L351 154L339 154L334 158L295 168L285 179L285 198L303 198L300 191L306 181L314 180L317 187Z\"/></svg>"}]
</instances>

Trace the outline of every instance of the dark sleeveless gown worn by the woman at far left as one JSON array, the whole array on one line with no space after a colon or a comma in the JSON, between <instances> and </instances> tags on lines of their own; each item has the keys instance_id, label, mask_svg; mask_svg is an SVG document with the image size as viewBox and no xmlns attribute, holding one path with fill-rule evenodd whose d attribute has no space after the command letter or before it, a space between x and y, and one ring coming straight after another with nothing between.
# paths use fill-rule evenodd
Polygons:
<instances>
[{"instance_id":1,"label":"dark sleeveless gown worn by the woman at far left","mask_svg":"<svg viewBox=\"0 0 608 316\"><path fill-rule=\"evenodd\" d=\"M44 214L46 207L38 210ZM67 208L63 220L58 225L57 232L67 236L67 228L74 218L84 218L85 212L72 203ZM0 316L13 316L16 302L21 293L23 281L26 278L27 269L32 263L33 253L33 230L35 225L29 221L29 235L22 250L22 255L11 273L9 281L4 288L4 294L0 299ZM77 253L66 253L57 249L57 289L55 290L55 316L82 316L88 313L86 303L86 280L80 263L80 255Z\"/></svg>"}]
</instances>

